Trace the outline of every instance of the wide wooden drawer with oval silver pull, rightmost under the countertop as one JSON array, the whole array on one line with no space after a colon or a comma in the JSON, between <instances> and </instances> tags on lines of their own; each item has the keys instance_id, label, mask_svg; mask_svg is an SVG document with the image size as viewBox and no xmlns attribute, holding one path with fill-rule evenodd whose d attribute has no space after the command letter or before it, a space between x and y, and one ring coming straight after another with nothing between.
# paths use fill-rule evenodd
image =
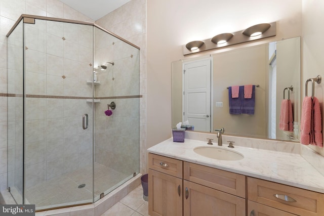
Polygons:
<instances>
[{"instance_id":1,"label":"wide wooden drawer with oval silver pull, rightmost under the countertop","mask_svg":"<svg viewBox=\"0 0 324 216\"><path fill-rule=\"evenodd\" d=\"M248 177L248 199L298 215L324 215L324 194L265 180Z\"/></svg>"}]
</instances>

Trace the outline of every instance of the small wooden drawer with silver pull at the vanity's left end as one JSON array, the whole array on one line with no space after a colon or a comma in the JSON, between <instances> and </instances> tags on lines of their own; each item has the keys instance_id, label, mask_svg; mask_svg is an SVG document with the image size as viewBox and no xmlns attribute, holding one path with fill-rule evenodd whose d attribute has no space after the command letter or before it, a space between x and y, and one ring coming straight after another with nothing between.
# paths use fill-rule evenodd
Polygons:
<instances>
[{"instance_id":1,"label":"small wooden drawer with silver pull at the vanity's left end","mask_svg":"<svg viewBox=\"0 0 324 216\"><path fill-rule=\"evenodd\" d=\"M149 153L148 168L182 179L182 160Z\"/></svg>"}]
</instances>

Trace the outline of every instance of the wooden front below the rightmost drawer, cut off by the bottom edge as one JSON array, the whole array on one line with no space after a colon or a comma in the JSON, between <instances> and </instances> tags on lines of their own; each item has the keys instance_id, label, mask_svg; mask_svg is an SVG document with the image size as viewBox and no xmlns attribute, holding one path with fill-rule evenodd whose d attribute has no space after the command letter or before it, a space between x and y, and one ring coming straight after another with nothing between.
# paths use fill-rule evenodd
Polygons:
<instances>
[{"instance_id":1,"label":"wooden front below the rightmost drawer, cut off by the bottom edge","mask_svg":"<svg viewBox=\"0 0 324 216\"><path fill-rule=\"evenodd\" d=\"M296 214L281 211L253 201L248 202L248 215L249 216L296 216Z\"/></svg>"}]
</instances>

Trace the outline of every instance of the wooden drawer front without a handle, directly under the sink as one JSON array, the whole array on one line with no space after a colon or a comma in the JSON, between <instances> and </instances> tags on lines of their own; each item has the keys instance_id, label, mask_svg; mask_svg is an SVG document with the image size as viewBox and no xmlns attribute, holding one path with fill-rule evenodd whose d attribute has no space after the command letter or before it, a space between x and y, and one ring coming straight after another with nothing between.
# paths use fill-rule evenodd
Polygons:
<instances>
[{"instance_id":1,"label":"wooden drawer front without a handle, directly under the sink","mask_svg":"<svg viewBox=\"0 0 324 216\"><path fill-rule=\"evenodd\" d=\"M246 197L246 180L243 175L184 161L183 178L242 198Z\"/></svg>"}]
</instances>

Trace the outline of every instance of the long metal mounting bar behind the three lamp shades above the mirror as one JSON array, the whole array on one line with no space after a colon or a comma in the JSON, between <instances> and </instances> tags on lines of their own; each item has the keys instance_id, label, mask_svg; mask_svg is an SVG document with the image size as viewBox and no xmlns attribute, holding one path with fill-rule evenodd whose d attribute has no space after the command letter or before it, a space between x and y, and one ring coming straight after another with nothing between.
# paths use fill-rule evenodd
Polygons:
<instances>
[{"instance_id":1,"label":"long metal mounting bar behind the three lamp shades above the mirror","mask_svg":"<svg viewBox=\"0 0 324 216\"><path fill-rule=\"evenodd\" d=\"M263 26L263 30L260 30L260 32L263 32L262 34L257 35L257 36L247 36L243 33L245 31L247 31L248 29L252 29L252 30L256 29L256 26L258 26L258 25ZM223 48L223 47L227 47L227 46L231 46L231 45L235 45L235 44L241 44L244 42L249 42L249 41L276 35L276 22L272 22L269 24L262 23L262 24L258 24L258 25L251 26L250 28L247 28L246 30L229 33L229 34L232 34L233 36L229 39L224 39L224 40L226 40L226 42L224 42L223 44L217 44L217 42L219 42L219 40L220 40L219 35L225 35L228 33L218 34L213 38L201 40L200 42L203 42L203 44L199 47L199 49L196 49L196 50L190 50L189 48L186 47L191 42L196 42L196 41L191 41L188 44L183 45L183 55L185 56L185 55L194 54L194 53L198 53L198 52L204 52L207 50L214 50L214 49L218 49L218 48ZM264 30L267 26L268 26L268 28L266 30ZM252 31L252 30L249 30L249 31ZM254 32L252 32L252 33L254 33ZM251 34L248 34L248 35L251 35Z\"/></svg>"}]
</instances>

